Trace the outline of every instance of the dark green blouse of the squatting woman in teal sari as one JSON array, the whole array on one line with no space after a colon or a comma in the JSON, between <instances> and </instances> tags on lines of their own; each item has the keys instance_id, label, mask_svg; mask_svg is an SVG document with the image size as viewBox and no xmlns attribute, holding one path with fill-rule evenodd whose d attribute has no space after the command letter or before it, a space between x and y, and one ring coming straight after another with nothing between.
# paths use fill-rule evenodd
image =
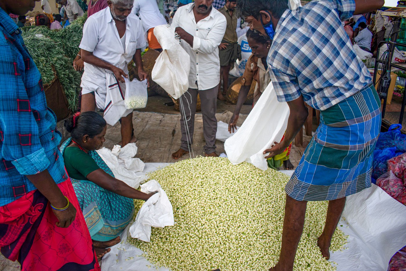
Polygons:
<instances>
[{"instance_id":1,"label":"dark green blouse of the squatting woman in teal sari","mask_svg":"<svg viewBox=\"0 0 406 271\"><path fill-rule=\"evenodd\" d=\"M99 169L89 154L75 146L69 146L65 149L63 160L69 177L73 179L90 181L86 178L87 175Z\"/></svg>"}]
</instances>

